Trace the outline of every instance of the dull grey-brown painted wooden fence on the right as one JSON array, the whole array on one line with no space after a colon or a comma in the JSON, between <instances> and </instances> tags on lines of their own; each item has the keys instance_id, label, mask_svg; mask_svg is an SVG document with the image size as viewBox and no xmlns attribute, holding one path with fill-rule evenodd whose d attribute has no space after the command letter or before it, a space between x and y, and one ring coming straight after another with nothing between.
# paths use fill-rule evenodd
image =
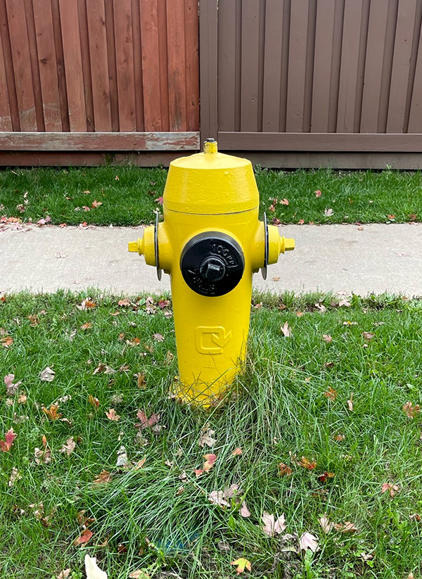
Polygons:
<instances>
[{"instance_id":1,"label":"dull grey-brown painted wooden fence on the right","mask_svg":"<svg viewBox=\"0 0 422 579\"><path fill-rule=\"evenodd\" d=\"M200 6L201 129L220 148L421 153L421 0Z\"/></svg>"}]
</instances>

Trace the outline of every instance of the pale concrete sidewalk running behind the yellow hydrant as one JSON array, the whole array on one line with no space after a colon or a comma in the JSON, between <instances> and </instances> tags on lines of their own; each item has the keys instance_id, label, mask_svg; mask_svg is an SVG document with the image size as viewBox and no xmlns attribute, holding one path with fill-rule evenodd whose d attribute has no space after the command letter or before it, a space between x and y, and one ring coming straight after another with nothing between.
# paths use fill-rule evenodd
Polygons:
<instances>
[{"instance_id":1,"label":"pale concrete sidewalk running behind the yellow hydrant","mask_svg":"<svg viewBox=\"0 0 422 579\"><path fill-rule=\"evenodd\" d=\"M296 250L269 267L267 281L255 275L255 288L422 295L420 224L288 225L282 232L295 238ZM141 234L142 227L6 226L0 230L0 291L170 289L169 276L159 282L155 268L128 253L127 242Z\"/></svg>"}]
</instances>

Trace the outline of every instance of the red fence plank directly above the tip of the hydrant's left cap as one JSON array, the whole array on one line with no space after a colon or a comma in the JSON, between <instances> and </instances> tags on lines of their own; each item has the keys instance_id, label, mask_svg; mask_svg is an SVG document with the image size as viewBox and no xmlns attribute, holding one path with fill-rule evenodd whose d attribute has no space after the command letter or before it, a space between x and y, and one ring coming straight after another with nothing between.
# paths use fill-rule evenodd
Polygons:
<instances>
[{"instance_id":1,"label":"red fence plank directly above the tip of the hydrant's left cap","mask_svg":"<svg viewBox=\"0 0 422 579\"><path fill-rule=\"evenodd\" d=\"M136 131L134 45L130 0L114 0L117 94L120 131Z\"/></svg>"}]
</instances>

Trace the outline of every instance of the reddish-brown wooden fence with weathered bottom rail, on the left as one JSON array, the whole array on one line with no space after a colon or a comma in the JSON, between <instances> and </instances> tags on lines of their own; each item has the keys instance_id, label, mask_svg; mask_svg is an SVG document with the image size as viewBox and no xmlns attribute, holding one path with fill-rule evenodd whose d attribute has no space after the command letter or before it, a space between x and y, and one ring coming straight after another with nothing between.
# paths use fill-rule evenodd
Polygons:
<instances>
[{"instance_id":1,"label":"reddish-brown wooden fence with weathered bottom rail, on the left","mask_svg":"<svg viewBox=\"0 0 422 579\"><path fill-rule=\"evenodd\" d=\"M198 147L196 0L0 0L0 149Z\"/></svg>"}]
</instances>

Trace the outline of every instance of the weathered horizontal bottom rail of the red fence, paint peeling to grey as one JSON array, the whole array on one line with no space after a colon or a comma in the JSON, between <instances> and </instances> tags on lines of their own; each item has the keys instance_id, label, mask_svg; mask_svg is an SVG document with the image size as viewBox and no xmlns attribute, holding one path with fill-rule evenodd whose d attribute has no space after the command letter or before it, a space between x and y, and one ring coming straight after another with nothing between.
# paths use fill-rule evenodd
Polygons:
<instances>
[{"instance_id":1,"label":"weathered horizontal bottom rail of the red fence, paint peeling to grey","mask_svg":"<svg viewBox=\"0 0 422 579\"><path fill-rule=\"evenodd\" d=\"M199 146L199 133L0 132L4 151L186 151Z\"/></svg>"}]
</instances>

